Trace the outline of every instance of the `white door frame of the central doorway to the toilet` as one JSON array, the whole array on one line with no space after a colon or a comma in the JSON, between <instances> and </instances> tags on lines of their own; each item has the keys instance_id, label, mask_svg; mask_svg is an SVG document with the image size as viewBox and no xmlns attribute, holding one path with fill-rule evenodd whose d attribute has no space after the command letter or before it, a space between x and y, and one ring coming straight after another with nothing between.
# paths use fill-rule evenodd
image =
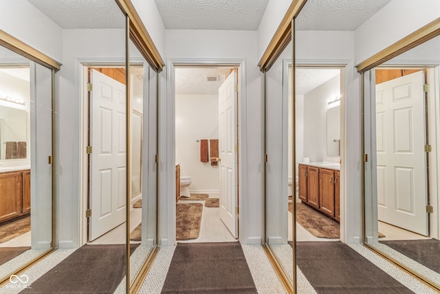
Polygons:
<instances>
[{"instance_id":1,"label":"white door frame of the central doorway to the toilet","mask_svg":"<svg viewBox=\"0 0 440 294\"><path fill-rule=\"evenodd\" d=\"M166 162L160 162L160 154L159 154L159 166L163 166L165 163L166 167L166 176L159 177L159 198L166 197L167 209L166 211L159 209L159 213L164 213L167 217L167 226L166 230L159 229L159 244L162 246L165 245L174 245L176 243L176 200L175 200L175 67L176 66L231 66L238 68L238 118L237 122L239 124L239 134L238 134L238 142L239 142L239 162L238 167L236 169L236 176L238 176L238 182L236 185L237 193L238 193L238 202L239 202L239 241L245 242L248 244L246 240L242 240L243 236L245 236L245 225L243 225L242 220L248 219L248 197L246 193L247 187L247 178L246 173L247 165L245 159L245 150L246 150L246 67L245 67L245 59L168 59L167 64L167 76L166 76L166 124L165 127L162 127L159 123L159 136L166 133L166 140L161 140L159 137L159 151L163 151L166 149ZM160 105L159 105L160 107ZM235 109L236 110L236 109ZM164 112L161 112L159 116L163 115ZM162 121L159 119L159 121ZM166 131L165 131L166 129ZM168 145L163 146L164 142L168 142ZM166 143L165 143L166 144ZM162 146L161 146L162 145ZM163 171L162 171L163 172ZM167 185L168 183L168 185ZM169 183L172 183L169 185ZM174 183L174 185L173 185ZM167 187L167 191L161 191L162 187ZM163 201L163 200L162 200ZM161 201L161 202L162 202ZM164 218L159 218L159 227L162 227L161 224L164 221ZM164 232L166 231L166 233Z\"/></svg>"}]
</instances>

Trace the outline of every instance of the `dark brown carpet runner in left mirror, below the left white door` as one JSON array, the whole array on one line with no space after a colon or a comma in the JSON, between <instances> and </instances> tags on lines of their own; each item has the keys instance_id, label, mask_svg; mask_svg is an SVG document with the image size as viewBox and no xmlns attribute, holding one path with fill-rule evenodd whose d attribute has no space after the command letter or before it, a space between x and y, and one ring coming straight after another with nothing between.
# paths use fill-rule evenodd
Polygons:
<instances>
[{"instance_id":1,"label":"dark brown carpet runner in left mirror, below the left white door","mask_svg":"<svg viewBox=\"0 0 440 294\"><path fill-rule=\"evenodd\" d=\"M21 293L113 293L125 276L125 250L125 244L84 245Z\"/></svg>"}]
</instances>

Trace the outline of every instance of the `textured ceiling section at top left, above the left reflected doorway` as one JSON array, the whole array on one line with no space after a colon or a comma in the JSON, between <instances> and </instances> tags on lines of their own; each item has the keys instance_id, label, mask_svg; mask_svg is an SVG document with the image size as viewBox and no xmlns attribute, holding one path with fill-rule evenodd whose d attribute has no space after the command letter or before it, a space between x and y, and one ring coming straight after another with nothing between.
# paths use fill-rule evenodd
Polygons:
<instances>
[{"instance_id":1,"label":"textured ceiling section at top left, above the left reflected doorway","mask_svg":"<svg viewBox=\"0 0 440 294\"><path fill-rule=\"evenodd\" d=\"M124 28L115 0L28 0L63 29Z\"/></svg>"}]
</instances>

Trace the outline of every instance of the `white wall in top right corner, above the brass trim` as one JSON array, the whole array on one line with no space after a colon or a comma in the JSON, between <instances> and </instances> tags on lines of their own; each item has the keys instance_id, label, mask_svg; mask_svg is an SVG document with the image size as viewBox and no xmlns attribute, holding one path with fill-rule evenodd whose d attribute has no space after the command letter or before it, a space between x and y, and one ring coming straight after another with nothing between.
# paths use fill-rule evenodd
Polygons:
<instances>
[{"instance_id":1,"label":"white wall in top right corner, above the brass trim","mask_svg":"<svg viewBox=\"0 0 440 294\"><path fill-rule=\"evenodd\" d=\"M393 0L355 30L355 64L440 17L438 0Z\"/></svg>"}]
</instances>

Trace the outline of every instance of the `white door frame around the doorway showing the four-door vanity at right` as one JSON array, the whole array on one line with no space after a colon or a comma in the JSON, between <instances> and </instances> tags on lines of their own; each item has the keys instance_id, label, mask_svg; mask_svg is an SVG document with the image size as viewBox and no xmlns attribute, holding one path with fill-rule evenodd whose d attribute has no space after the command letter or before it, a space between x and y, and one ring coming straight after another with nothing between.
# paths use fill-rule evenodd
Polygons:
<instances>
[{"instance_id":1,"label":"white door frame around the doorway showing the four-door vanity at right","mask_svg":"<svg viewBox=\"0 0 440 294\"><path fill-rule=\"evenodd\" d=\"M286 59L285 64L283 65L283 70L285 71L284 76L286 77L285 83L287 83L289 66L292 66L292 60ZM354 173L349 174L347 171L349 170L349 153L351 152L349 147L349 140L347 138L347 128L349 122L349 89L347 85L349 85L349 81L353 79L353 71L351 70L350 60L302 60L296 59L295 67L302 68L333 68L340 70L340 240L343 243L358 243L360 242L360 235L355 232L355 228L353 227L354 218L352 216L353 207L355 203L350 201L347 197L347 191L353 190L353 186L355 185L356 179ZM294 67L292 66L292 70ZM286 87L287 88L287 87ZM285 90L287 95L288 89ZM293 94L292 94L293 95ZM292 116L294 118L295 116ZM287 125L287 115L285 118L285 125ZM298 158L296 158L298 160ZM292 167L296 168L296 167ZM287 174L286 174L287 178ZM292 190L294 189L294 179L292 178ZM354 183L354 184L353 184ZM350 212L351 211L351 212Z\"/></svg>"}]
</instances>

